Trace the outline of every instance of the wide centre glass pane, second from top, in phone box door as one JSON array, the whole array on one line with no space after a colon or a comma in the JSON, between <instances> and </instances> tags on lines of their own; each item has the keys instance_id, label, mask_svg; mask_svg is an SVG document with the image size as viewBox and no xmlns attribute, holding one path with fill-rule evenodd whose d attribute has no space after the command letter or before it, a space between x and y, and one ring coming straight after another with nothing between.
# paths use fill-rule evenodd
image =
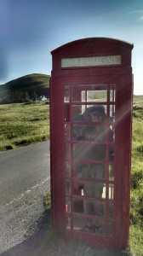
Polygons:
<instances>
[{"instance_id":1,"label":"wide centre glass pane, second from top, in phone box door","mask_svg":"<svg viewBox=\"0 0 143 256\"><path fill-rule=\"evenodd\" d=\"M106 105L72 105L72 121L98 124L105 123Z\"/></svg>"}]
</instances>

